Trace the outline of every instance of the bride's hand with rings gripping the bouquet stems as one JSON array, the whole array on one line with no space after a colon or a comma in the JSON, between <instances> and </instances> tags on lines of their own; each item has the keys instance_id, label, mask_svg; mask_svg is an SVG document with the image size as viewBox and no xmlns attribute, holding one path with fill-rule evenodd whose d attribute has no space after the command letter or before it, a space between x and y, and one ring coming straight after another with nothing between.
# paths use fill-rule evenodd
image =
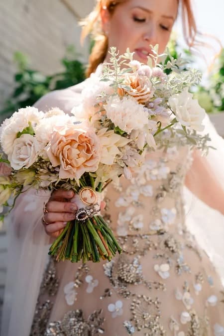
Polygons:
<instances>
[{"instance_id":1,"label":"bride's hand with rings gripping the bouquet stems","mask_svg":"<svg viewBox=\"0 0 224 336\"><path fill-rule=\"evenodd\" d=\"M74 195L72 190L55 190L45 205L42 224L51 237L58 237L67 222L75 219L77 206L70 202Z\"/></svg>"}]
</instances>

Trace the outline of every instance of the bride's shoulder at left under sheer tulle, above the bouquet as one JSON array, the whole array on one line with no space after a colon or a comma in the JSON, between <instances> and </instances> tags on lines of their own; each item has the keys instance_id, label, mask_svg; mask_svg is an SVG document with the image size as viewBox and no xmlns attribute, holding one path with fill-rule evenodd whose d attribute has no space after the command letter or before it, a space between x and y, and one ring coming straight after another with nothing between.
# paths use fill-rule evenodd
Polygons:
<instances>
[{"instance_id":1,"label":"bride's shoulder at left under sheer tulle, above the bouquet","mask_svg":"<svg viewBox=\"0 0 224 336\"><path fill-rule=\"evenodd\" d=\"M81 92L84 86L85 81L67 89L51 91L41 97L34 104L34 107L44 112L57 107L69 113L74 106L80 103Z\"/></svg>"}]
</instances>

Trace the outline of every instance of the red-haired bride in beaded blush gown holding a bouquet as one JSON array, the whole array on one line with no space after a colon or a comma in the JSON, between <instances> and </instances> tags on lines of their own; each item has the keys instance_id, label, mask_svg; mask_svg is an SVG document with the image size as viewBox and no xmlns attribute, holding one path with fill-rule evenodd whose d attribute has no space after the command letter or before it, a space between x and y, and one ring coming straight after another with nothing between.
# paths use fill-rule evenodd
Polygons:
<instances>
[{"instance_id":1,"label":"red-haired bride in beaded blush gown holding a bouquet","mask_svg":"<svg viewBox=\"0 0 224 336\"><path fill-rule=\"evenodd\" d=\"M98 0L83 29L83 36L93 32L96 39L86 81L99 76L110 46L120 53L129 47L142 63L150 44L158 43L163 52L181 7L192 46L197 30L190 0ZM52 92L35 106L69 113L80 103L86 81ZM148 153L131 181L121 178L119 185L110 185L103 214L123 248L111 262L48 259L50 240L75 218L74 194L20 196L10 217L1 335L224 335L221 280L186 227L183 199L186 185L224 214L224 189L214 162L177 142Z\"/></svg>"}]
</instances>

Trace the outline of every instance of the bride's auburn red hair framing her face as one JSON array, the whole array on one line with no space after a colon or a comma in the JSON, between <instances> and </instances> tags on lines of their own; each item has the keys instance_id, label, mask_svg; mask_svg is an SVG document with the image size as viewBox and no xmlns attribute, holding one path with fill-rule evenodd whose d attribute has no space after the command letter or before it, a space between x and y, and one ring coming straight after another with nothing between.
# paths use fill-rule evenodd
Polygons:
<instances>
[{"instance_id":1,"label":"bride's auburn red hair framing her face","mask_svg":"<svg viewBox=\"0 0 224 336\"><path fill-rule=\"evenodd\" d=\"M128 0L97 0L94 10L81 22L83 26L81 41L89 34L92 35L95 44L89 57L89 65L86 71L86 76L89 77L92 72L95 72L98 65L104 62L108 52L108 37L102 30L101 25L101 10L107 8L112 14L117 4ZM191 0L178 0L179 7L182 11L183 33L184 38L192 47L196 40L197 27L193 14Z\"/></svg>"}]
</instances>

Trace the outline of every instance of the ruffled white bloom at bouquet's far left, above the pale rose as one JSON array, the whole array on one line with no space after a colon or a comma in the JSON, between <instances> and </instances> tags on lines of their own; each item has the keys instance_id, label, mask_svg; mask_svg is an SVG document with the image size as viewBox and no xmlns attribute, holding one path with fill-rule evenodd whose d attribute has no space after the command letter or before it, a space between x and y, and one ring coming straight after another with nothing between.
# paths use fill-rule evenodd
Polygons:
<instances>
[{"instance_id":1,"label":"ruffled white bloom at bouquet's far left, above the pale rose","mask_svg":"<svg viewBox=\"0 0 224 336\"><path fill-rule=\"evenodd\" d=\"M0 143L5 154L12 154L17 133L22 132L29 125L35 130L43 116L44 113L39 112L36 108L27 107L19 109L9 119L4 120L0 127Z\"/></svg>"}]
</instances>

